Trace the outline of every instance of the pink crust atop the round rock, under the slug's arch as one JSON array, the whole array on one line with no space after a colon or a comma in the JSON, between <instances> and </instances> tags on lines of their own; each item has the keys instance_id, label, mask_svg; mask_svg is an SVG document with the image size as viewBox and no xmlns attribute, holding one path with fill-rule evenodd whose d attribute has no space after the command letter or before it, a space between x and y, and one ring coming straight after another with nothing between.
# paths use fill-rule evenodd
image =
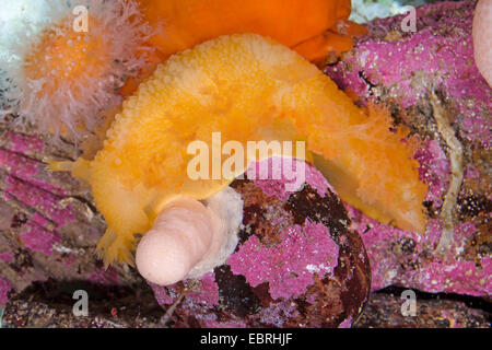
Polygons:
<instances>
[{"instance_id":1,"label":"pink crust atop the round rock, under the slug's arch","mask_svg":"<svg viewBox=\"0 0 492 350\"><path fill-rule=\"evenodd\" d=\"M300 172L300 174L297 174ZM301 173L302 172L302 173ZM296 159L272 156L251 164L246 172L248 178L255 178L256 186L269 197L276 196L280 200L288 200L289 196L305 184L309 184L319 196L324 197L327 188L335 189L328 184L325 176L313 164ZM294 177L298 175L297 180ZM288 185L298 185L288 190Z\"/></svg>"}]
</instances>

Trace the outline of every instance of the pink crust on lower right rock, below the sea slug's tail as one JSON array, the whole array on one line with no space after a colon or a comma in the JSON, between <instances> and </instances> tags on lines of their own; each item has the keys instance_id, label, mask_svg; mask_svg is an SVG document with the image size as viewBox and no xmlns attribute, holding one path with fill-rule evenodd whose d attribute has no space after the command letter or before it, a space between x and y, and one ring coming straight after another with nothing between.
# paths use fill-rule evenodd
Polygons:
<instances>
[{"instance_id":1,"label":"pink crust on lower right rock, below the sea slug's tail","mask_svg":"<svg viewBox=\"0 0 492 350\"><path fill-rule=\"evenodd\" d=\"M492 294L492 257L483 257L480 265L459 260L453 250L444 257L423 260L426 252L433 252L441 236L440 222L432 220L427 232L420 236L372 220L359 210L347 206L355 230L362 230L362 241L367 250L372 269L372 290L388 285L405 285L426 292L449 292L469 295ZM476 232L471 223L455 228L455 243L458 249ZM402 252L396 253L396 246ZM415 265L417 266L413 266ZM413 266L413 267L412 267ZM405 267L405 268L403 268Z\"/></svg>"}]
</instances>

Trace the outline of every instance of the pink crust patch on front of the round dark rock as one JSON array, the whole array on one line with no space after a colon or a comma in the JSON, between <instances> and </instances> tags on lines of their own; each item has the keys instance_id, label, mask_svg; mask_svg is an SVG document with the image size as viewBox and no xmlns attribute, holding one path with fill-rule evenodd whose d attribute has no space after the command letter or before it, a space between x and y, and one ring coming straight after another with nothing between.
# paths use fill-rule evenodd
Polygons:
<instances>
[{"instance_id":1,"label":"pink crust patch on front of the round dark rock","mask_svg":"<svg viewBox=\"0 0 492 350\"><path fill-rule=\"evenodd\" d=\"M244 275L251 287L269 283L270 295L298 298L314 283L314 275L332 275L338 265L338 246L328 229L306 220L280 234L281 243L265 246L250 236L229 258L234 275Z\"/></svg>"}]
</instances>

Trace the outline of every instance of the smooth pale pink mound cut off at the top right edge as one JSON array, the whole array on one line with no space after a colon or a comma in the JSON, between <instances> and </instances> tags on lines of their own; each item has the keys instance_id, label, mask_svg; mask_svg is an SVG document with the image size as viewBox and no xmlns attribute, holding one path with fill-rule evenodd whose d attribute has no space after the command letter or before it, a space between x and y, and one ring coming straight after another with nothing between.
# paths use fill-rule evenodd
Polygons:
<instances>
[{"instance_id":1,"label":"smooth pale pink mound cut off at the top right edge","mask_svg":"<svg viewBox=\"0 0 492 350\"><path fill-rule=\"evenodd\" d=\"M475 63L492 86L492 0L480 0L473 16Z\"/></svg>"}]
</instances>

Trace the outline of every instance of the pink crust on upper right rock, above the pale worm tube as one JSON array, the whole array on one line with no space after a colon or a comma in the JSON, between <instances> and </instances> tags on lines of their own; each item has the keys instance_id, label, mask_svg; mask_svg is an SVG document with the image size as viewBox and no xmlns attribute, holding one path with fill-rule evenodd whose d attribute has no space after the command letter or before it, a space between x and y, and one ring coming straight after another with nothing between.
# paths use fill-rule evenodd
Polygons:
<instances>
[{"instance_id":1,"label":"pink crust on upper right rock, above the pale worm tube","mask_svg":"<svg viewBox=\"0 0 492 350\"><path fill-rule=\"evenodd\" d=\"M367 24L371 34L325 72L363 102L374 97L373 85L389 89L402 107L425 98L431 88L442 89L459 112L461 136L488 148L492 90L475 65L473 7L473 1L422 5L417 9L415 33L400 30L408 14L373 21Z\"/></svg>"}]
</instances>

